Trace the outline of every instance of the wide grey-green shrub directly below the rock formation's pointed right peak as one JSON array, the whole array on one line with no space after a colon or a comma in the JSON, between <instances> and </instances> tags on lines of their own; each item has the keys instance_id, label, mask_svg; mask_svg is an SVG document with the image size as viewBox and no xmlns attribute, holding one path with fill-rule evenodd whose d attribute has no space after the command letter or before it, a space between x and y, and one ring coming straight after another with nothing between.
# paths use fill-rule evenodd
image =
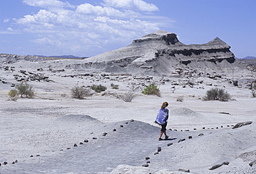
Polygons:
<instances>
[{"instance_id":1,"label":"wide grey-green shrub directly below the rock formation's pointed right peak","mask_svg":"<svg viewBox=\"0 0 256 174\"><path fill-rule=\"evenodd\" d=\"M211 88L210 90L206 91L205 97L203 97L203 100L219 100L219 101L228 101L230 100L230 94L225 92L224 89L219 88Z\"/></svg>"}]
</instances>

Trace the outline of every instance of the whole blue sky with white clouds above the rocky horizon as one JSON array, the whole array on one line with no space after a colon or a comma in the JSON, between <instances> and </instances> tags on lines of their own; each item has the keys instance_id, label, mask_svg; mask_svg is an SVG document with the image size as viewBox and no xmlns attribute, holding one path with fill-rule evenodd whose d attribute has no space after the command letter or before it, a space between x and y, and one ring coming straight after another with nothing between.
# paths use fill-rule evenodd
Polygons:
<instances>
[{"instance_id":1,"label":"whole blue sky with white clouds above the rocky horizon","mask_svg":"<svg viewBox=\"0 0 256 174\"><path fill-rule=\"evenodd\" d=\"M0 53L91 57L165 30L256 57L255 0L0 0Z\"/></svg>"}]
</instances>

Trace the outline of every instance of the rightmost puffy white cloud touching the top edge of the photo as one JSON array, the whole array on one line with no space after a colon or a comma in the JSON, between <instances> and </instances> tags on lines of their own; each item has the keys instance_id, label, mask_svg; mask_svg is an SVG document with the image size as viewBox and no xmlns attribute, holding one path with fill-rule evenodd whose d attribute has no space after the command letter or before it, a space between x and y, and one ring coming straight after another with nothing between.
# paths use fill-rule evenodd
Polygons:
<instances>
[{"instance_id":1,"label":"rightmost puffy white cloud touching the top edge of the photo","mask_svg":"<svg viewBox=\"0 0 256 174\"><path fill-rule=\"evenodd\" d=\"M146 3L142 0L103 0L104 6L111 6L114 8L128 8L136 9L140 11L153 12L157 11L158 8L153 3Z\"/></svg>"}]
</instances>

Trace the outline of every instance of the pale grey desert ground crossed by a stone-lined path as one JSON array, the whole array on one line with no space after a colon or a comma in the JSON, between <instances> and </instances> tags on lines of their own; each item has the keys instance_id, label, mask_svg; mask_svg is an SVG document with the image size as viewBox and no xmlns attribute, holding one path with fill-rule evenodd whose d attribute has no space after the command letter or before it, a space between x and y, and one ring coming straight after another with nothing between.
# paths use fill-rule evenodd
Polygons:
<instances>
[{"instance_id":1,"label":"pale grey desert ground crossed by a stone-lined path","mask_svg":"<svg viewBox=\"0 0 256 174\"><path fill-rule=\"evenodd\" d=\"M38 68L26 66L26 61L11 66L15 66L14 72L1 69L1 79L8 83L0 84L1 174L185 173L188 170L190 173L256 173L256 164L249 165L256 160L256 98L243 84L246 78L255 78L253 74L239 72L226 77L239 79L241 88L225 79L194 77L194 81L204 82L193 88L175 86L174 93L172 81L186 78L165 77L170 81L158 84L161 97L143 95L141 86L142 89L135 91L137 97L125 102L109 94L126 93L131 84L143 81L147 85L162 77L145 80L109 75L107 79L100 72L93 77L62 77L79 72L44 70L42 73L54 82L28 81L35 97L10 101L8 91L14 89L10 84L18 84L13 75L20 74L21 69L36 72ZM72 99L71 88L77 83L80 86L102 84L107 86L107 93ZM118 84L119 89L111 89L111 83ZM208 83L212 86L205 85ZM201 100L214 86L225 86L232 100ZM179 96L183 96L183 102L176 101ZM154 124L154 119L163 101L170 104L167 134L171 139L158 141L160 127ZM232 129L235 124L248 121L253 124ZM89 142L84 142L86 139ZM179 142L180 139L185 141ZM161 147L159 152L158 147ZM209 170L223 162L229 164Z\"/></svg>"}]
</instances>

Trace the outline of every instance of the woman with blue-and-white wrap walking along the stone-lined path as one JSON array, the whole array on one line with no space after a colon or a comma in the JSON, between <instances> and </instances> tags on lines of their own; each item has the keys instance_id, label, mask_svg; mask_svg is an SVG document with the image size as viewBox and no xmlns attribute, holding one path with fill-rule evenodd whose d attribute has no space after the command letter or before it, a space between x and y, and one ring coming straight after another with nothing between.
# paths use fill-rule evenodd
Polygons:
<instances>
[{"instance_id":1,"label":"woman with blue-and-white wrap walking along the stone-lined path","mask_svg":"<svg viewBox=\"0 0 256 174\"><path fill-rule=\"evenodd\" d=\"M163 102L161 108L158 111L158 114L156 116L156 123L160 124L162 126L161 133L159 135L159 141L163 140L162 135L165 134L165 139L167 139L169 136L166 134L166 126L168 122L169 117L169 110L166 108L169 104L165 101Z\"/></svg>"}]
</instances>

